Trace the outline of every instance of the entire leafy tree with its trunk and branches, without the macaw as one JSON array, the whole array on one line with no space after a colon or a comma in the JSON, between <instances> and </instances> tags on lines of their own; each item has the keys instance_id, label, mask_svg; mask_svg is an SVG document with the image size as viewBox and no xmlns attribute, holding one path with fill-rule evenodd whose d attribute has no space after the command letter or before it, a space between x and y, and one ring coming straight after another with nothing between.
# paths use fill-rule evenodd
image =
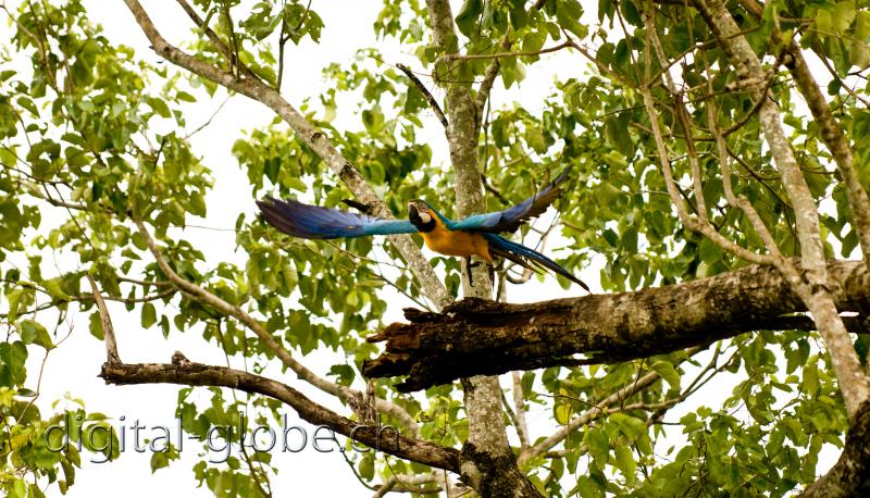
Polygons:
<instances>
[{"instance_id":1,"label":"entire leafy tree with its trunk and branches, without the macaw","mask_svg":"<svg viewBox=\"0 0 870 498\"><path fill-rule=\"evenodd\" d=\"M107 36L80 0L1 7L8 496L74 485L82 453L58 450L52 426L123 458L107 444L113 415L84 393L74 409L39 397L62 382L40 365L71 323L104 341L107 383L179 385L176 416L203 448L214 427L250 435L241 413L269 425L294 412L377 449L339 464L375 496L870 488L870 3L384 0L370 26L383 46L322 53L322 91L300 101L285 97L309 71L294 50L339 7L125 3L152 53ZM170 18L189 30L170 39ZM410 55L390 60L387 45ZM551 85L520 103L540 73ZM189 105L223 95L274 114L238 123L226 158L248 179L234 192L250 210L226 220L241 263L185 229L222 182L191 146ZM291 238L253 211L265 196L353 199L405 217L422 198L464 216L567 166L556 209L514 238L597 274L592 296L505 263L490 281L419 237ZM508 302L544 285L564 298ZM117 344L135 331L112 325L119 313L226 363L186 350L125 363ZM324 350L344 360L312 366ZM153 451L156 478L178 457ZM219 497L271 496L279 471L251 447L191 469Z\"/></svg>"}]
</instances>

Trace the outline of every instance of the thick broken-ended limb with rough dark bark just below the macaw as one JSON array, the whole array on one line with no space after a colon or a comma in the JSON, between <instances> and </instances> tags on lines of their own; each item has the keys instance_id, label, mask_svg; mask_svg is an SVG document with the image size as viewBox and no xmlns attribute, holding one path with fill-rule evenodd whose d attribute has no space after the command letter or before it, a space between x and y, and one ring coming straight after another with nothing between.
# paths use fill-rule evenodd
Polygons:
<instances>
[{"instance_id":1,"label":"thick broken-ended limb with rough dark bark just below the macaw","mask_svg":"<svg viewBox=\"0 0 870 498\"><path fill-rule=\"evenodd\" d=\"M854 261L832 261L829 267L836 306L861 313L849 323L856 332L866 329L870 272ZM812 328L807 316L781 316L806 310L790 283L769 265L633 292L531 304L464 300L443 313L413 310L406 314L410 324L386 327L372 338L386 340L386 351L365 362L363 373L408 375L398 388L409 391L463 375L631 360L744 332ZM571 357L577 353L591 359Z\"/></svg>"}]
</instances>

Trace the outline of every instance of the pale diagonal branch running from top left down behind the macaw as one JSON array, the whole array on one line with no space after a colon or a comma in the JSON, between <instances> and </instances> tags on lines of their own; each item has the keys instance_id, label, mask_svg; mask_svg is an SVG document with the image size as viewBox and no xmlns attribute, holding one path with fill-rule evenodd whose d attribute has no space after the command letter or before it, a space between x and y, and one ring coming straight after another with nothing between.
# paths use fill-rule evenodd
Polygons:
<instances>
[{"instance_id":1,"label":"pale diagonal branch running from top left down behind the macaw","mask_svg":"<svg viewBox=\"0 0 870 498\"><path fill-rule=\"evenodd\" d=\"M246 77L243 70L240 76L232 72L214 67L186 52L170 45L154 27L148 13L137 0L125 0L136 22L141 27L151 47L158 55L173 64L190 71L206 79L210 79L233 91L245 95L272 109L278 114L293 130L311 148L328 166L338 175L341 182L353 192L357 200L372 207L372 214L380 217L391 219L393 214L377 197L372 187L362 177L347 159L333 147L330 140L309 123L299 111L284 100L281 94L256 77ZM216 37L215 37L216 39ZM213 40L214 41L214 40ZM216 39L215 42L221 42ZM451 301L447 289L435 275L428 261L408 235L393 235L387 237L398 249L405 261L410 266L426 296L442 308Z\"/></svg>"}]
</instances>

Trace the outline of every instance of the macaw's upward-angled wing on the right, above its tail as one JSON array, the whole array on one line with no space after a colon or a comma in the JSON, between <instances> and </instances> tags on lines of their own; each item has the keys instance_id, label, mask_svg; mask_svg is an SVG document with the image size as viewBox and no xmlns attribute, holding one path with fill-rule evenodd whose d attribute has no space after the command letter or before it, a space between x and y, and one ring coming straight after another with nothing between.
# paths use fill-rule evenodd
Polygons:
<instances>
[{"instance_id":1,"label":"macaw's upward-angled wing on the right, above its tail","mask_svg":"<svg viewBox=\"0 0 870 498\"><path fill-rule=\"evenodd\" d=\"M566 167L562 174L546 188L512 208L494 213L474 214L463 220L449 222L447 226L453 231L517 232L520 225L544 213L552 201L559 198L560 186L568 178L570 171L571 166Z\"/></svg>"}]
</instances>

